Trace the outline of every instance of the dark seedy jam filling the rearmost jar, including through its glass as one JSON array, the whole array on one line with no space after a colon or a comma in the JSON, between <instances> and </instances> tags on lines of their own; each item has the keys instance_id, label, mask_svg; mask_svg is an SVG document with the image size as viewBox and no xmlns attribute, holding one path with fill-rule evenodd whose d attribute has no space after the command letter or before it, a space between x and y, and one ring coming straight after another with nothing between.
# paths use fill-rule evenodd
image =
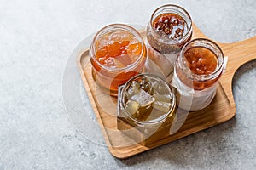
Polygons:
<instances>
[{"instance_id":1,"label":"dark seedy jam filling the rearmost jar, including through its glass","mask_svg":"<svg viewBox=\"0 0 256 170\"><path fill-rule=\"evenodd\" d=\"M192 37L189 26L178 14L160 14L152 20L150 26L148 25L148 43L161 54L177 54Z\"/></svg>"}]
</instances>

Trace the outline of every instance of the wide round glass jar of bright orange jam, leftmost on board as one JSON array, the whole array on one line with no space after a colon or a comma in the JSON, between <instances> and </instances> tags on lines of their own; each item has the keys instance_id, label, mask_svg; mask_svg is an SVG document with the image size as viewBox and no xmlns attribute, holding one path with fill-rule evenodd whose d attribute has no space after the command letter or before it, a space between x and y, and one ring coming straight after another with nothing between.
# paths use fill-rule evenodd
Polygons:
<instances>
[{"instance_id":1,"label":"wide round glass jar of bright orange jam, leftmost on board","mask_svg":"<svg viewBox=\"0 0 256 170\"><path fill-rule=\"evenodd\" d=\"M131 26L105 26L90 45L93 78L103 92L113 96L119 85L142 72L146 59L143 38Z\"/></svg>"}]
</instances>

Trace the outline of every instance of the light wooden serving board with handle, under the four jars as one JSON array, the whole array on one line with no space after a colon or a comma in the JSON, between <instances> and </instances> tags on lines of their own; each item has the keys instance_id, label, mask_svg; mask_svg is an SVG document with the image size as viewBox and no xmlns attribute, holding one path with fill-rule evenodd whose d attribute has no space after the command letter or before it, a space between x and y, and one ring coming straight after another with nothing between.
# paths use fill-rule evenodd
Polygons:
<instances>
[{"instance_id":1,"label":"light wooden serving board with handle, under the four jars","mask_svg":"<svg viewBox=\"0 0 256 170\"><path fill-rule=\"evenodd\" d=\"M145 38L145 31L141 31ZM193 38L205 37L194 25ZM129 143L129 139L117 129L117 99L108 94L102 94L91 75L91 65L88 49L84 49L77 58L77 66L84 82L84 88L90 99L96 119L102 128L102 134L113 156L126 158L145 150L150 150L162 144L181 139L189 134L199 132L208 127L230 120L236 114L236 105L232 94L232 78L236 70L243 64L256 59L256 37L235 43L218 43L224 56L229 57L224 75L218 83L217 95L211 105L201 111L190 111L183 126L172 135L158 140L150 147ZM127 142L128 141L128 142Z\"/></svg>"}]
</instances>

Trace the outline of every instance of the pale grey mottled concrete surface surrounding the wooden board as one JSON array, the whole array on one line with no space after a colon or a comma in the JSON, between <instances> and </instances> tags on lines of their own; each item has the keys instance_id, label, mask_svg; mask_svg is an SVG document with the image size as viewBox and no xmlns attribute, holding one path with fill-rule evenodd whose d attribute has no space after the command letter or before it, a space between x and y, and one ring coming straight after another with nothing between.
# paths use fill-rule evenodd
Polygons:
<instances>
[{"instance_id":1,"label":"pale grey mottled concrete surface surrounding the wooden board","mask_svg":"<svg viewBox=\"0 0 256 170\"><path fill-rule=\"evenodd\" d=\"M186 8L215 41L256 36L254 0L0 0L0 170L256 168L255 60L234 77L235 118L126 160L69 121L61 83L73 49L109 23L146 26L166 3ZM87 114L90 103L83 96ZM97 129L92 133L102 138Z\"/></svg>"}]
</instances>

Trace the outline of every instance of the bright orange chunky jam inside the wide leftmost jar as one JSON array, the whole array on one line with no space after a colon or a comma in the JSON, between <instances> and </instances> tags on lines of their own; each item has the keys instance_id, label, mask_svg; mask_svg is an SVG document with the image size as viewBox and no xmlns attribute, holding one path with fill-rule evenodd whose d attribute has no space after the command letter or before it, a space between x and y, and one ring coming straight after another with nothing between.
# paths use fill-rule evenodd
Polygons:
<instances>
[{"instance_id":1,"label":"bright orange chunky jam inside the wide leftmost jar","mask_svg":"<svg viewBox=\"0 0 256 170\"><path fill-rule=\"evenodd\" d=\"M94 79L105 89L103 91L116 96L119 85L142 71L146 48L142 42L135 42L133 39L113 41L96 48L95 59L98 63L90 59ZM135 63L137 64L134 65Z\"/></svg>"}]
</instances>

